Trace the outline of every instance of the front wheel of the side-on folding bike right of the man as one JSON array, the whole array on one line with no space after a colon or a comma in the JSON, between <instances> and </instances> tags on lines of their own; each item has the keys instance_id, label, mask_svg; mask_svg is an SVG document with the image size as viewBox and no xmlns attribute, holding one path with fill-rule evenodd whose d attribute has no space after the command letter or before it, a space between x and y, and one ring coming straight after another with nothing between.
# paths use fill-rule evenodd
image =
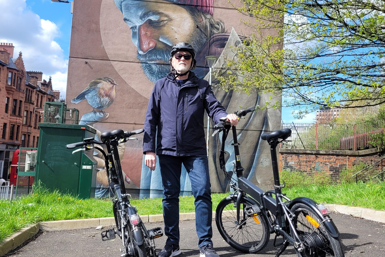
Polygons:
<instances>
[{"instance_id":1,"label":"front wheel of the side-on folding bike right of the man","mask_svg":"<svg viewBox=\"0 0 385 257\"><path fill-rule=\"evenodd\" d=\"M226 242L235 249L246 253L261 250L270 238L265 216L249 217L246 215L245 208L253 204L246 197L241 199L240 225L237 225L237 207L231 196L218 204L215 215L218 230Z\"/></svg>"}]
</instances>

